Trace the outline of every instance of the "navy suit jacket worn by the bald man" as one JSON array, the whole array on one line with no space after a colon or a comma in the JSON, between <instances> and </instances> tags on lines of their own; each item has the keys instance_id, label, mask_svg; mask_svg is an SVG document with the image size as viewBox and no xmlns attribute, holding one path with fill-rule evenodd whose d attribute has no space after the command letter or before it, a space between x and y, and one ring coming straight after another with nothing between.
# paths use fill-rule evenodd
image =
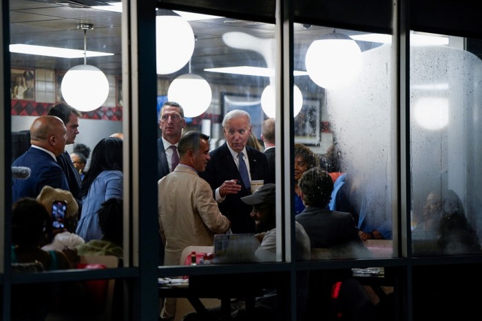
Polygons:
<instances>
[{"instance_id":1,"label":"navy suit jacket worn by the bald man","mask_svg":"<svg viewBox=\"0 0 482 321\"><path fill-rule=\"evenodd\" d=\"M30 177L25 180L12 180L12 202L23 197L36 198L45 185L69 190L62 168L52 156L41 149L30 147L12 166L29 167L31 171Z\"/></svg>"}]
</instances>

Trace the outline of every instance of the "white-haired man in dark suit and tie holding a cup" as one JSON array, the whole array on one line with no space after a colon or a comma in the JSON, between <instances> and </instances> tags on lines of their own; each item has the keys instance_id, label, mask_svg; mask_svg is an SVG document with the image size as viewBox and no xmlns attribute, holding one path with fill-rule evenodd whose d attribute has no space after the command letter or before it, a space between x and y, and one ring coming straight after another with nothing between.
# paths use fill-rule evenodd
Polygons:
<instances>
[{"instance_id":1,"label":"white-haired man in dark suit and tie holding a cup","mask_svg":"<svg viewBox=\"0 0 482 321\"><path fill-rule=\"evenodd\" d=\"M255 232L254 221L249 216L251 206L241 200L251 194L250 180L271 183L266 156L246 145L251 127L247 112L227 113L222 121L226 143L209 153L211 160L205 172L199 174L211 185L213 197L221 213L231 221L233 233Z\"/></svg>"}]
</instances>

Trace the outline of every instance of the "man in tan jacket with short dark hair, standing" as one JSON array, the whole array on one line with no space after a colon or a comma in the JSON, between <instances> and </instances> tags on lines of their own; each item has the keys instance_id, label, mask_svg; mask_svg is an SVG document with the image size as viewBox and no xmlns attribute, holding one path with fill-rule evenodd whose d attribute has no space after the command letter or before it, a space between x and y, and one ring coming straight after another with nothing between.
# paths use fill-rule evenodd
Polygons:
<instances>
[{"instance_id":1,"label":"man in tan jacket with short dark hair, standing","mask_svg":"<svg viewBox=\"0 0 482 321\"><path fill-rule=\"evenodd\" d=\"M230 222L221 214L209 184L198 176L209 161L209 136L184 134L178 143L180 162L158 181L160 236L165 244L164 265L179 265L189 245L213 245L213 236L228 231ZM171 320L176 299L167 298L161 318Z\"/></svg>"}]
</instances>

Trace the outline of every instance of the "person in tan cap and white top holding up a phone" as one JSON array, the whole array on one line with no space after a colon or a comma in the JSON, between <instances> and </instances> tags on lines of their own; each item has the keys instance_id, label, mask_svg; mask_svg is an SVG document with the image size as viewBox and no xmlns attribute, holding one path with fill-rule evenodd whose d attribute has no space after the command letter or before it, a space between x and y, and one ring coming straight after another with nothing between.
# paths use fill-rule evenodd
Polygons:
<instances>
[{"instance_id":1,"label":"person in tan cap and white top holding up a phone","mask_svg":"<svg viewBox=\"0 0 482 321\"><path fill-rule=\"evenodd\" d=\"M78 245L84 243L83 238L75 234L78 221L78 205L70 191L59 188L44 186L36 200L41 203L49 213L52 213L52 205L56 201L65 203L65 228L54 229L54 239L42 249L44 251L68 249L76 249Z\"/></svg>"}]
</instances>

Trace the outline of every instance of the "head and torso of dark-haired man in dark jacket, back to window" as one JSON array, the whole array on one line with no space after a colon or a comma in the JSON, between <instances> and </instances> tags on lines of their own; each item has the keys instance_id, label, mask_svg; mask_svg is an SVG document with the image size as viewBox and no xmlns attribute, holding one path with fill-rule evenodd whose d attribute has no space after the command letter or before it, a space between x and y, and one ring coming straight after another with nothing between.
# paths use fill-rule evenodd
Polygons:
<instances>
[{"instance_id":1,"label":"head and torso of dark-haired man in dark jacket, back to window","mask_svg":"<svg viewBox=\"0 0 482 321\"><path fill-rule=\"evenodd\" d=\"M365 250L353 216L328 209L333 180L326 172L318 167L308 169L298 181L298 186L306 208L295 220L304 227L312 248L336 249L342 256L357 255L357 251Z\"/></svg>"}]
</instances>

